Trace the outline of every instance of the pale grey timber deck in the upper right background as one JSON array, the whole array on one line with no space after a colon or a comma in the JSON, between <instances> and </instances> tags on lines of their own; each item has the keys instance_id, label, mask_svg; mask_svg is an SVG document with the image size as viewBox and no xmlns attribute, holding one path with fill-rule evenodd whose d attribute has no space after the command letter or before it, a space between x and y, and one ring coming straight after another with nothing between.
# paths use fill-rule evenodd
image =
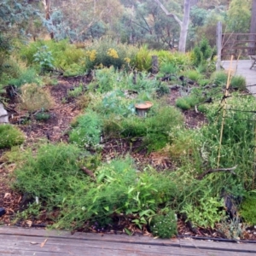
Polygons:
<instances>
[{"instance_id":1,"label":"pale grey timber deck in the upper right background","mask_svg":"<svg viewBox=\"0 0 256 256\"><path fill-rule=\"evenodd\" d=\"M256 68L250 69L252 66L252 61L232 61L230 65L230 61L222 61L222 67L224 67L227 72L231 70L232 75L237 74L243 76L247 80L247 85L256 84ZM251 93L256 93L256 86L249 86L247 89Z\"/></svg>"}]
</instances>

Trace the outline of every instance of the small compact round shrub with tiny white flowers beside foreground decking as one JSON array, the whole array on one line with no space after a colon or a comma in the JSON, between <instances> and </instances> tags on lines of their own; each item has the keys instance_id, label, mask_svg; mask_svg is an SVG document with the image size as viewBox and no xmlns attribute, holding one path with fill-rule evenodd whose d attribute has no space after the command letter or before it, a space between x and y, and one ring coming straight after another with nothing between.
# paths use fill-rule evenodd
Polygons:
<instances>
[{"instance_id":1,"label":"small compact round shrub with tiny white flowers beside foreground decking","mask_svg":"<svg viewBox=\"0 0 256 256\"><path fill-rule=\"evenodd\" d=\"M177 235L177 216L171 210L165 214L155 215L150 222L150 230L154 236L171 238Z\"/></svg>"}]
</instances>

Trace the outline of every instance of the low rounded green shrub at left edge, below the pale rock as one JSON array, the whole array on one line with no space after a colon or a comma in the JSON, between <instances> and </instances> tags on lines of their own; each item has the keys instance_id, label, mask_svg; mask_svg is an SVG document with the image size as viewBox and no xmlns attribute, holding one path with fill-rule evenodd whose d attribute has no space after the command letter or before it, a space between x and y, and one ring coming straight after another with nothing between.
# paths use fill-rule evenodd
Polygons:
<instances>
[{"instance_id":1,"label":"low rounded green shrub at left edge, below the pale rock","mask_svg":"<svg viewBox=\"0 0 256 256\"><path fill-rule=\"evenodd\" d=\"M0 148L11 148L24 142L25 136L13 125L0 125Z\"/></svg>"}]
</instances>

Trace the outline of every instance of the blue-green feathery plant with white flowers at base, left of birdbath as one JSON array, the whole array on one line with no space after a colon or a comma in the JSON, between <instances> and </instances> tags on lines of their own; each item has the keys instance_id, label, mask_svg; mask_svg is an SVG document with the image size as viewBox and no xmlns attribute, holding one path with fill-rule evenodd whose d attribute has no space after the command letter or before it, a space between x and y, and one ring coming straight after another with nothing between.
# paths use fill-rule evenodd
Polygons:
<instances>
[{"instance_id":1,"label":"blue-green feathery plant with white flowers at base, left of birdbath","mask_svg":"<svg viewBox=\"0 0 256 256\"><path fill-rule=\"evenodd\" d=\"M79 147L99 148L102 133L102 119L96 112L88 111L77 120L77 126L70 132L69 141Z\"/></svg>"}]
</instances>

